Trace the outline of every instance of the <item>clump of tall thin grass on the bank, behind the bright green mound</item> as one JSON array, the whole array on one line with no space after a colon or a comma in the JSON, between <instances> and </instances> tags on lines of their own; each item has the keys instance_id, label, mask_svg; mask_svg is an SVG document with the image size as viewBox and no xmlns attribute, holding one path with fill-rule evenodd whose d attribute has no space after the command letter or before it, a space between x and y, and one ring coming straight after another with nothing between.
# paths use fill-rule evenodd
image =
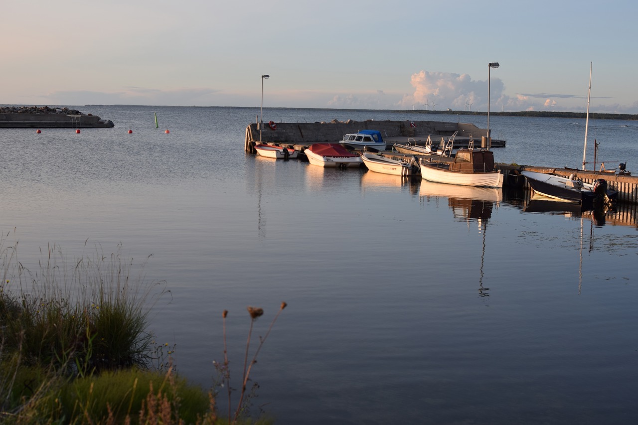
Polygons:
<instances>
[{"instance_id":1,"label":"clump of tall thin grass on the bank, behind the bright green mound","mask_svg":"<svg viewBox=\"0 0 638 425\"><path fill-rule=\"evenodd\" d=\"M3 250L5 268L15 252ZM131 281L132 269L121 246L110 256L96 251L79 258L73 267L57 246L36 273L18 263L17 274L0 284L5 347L19 349L26 364L71 366L80 375L146 366L153 339L148 313L165 286Z\"/></svg>"}]
</instances>

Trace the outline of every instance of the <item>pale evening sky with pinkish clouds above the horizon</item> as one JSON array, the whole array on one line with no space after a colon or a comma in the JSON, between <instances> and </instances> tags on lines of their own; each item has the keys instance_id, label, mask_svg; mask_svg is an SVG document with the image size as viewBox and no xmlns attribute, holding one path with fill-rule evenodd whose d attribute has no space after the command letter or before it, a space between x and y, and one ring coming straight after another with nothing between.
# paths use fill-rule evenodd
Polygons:
<instances>
[{"instance_id":1,"label":"pale evening sky with pinkish clouds above the horizon","mask_svg":"<svg viewBox=\"0 0 638 425\"><path fill-rule=\"evenodd\" d=\"M637 16L624 0L8 1L0 104L487 111L489 93L492 111L584 112L591 64L590 112L638 114Z\"/></svg>"}]
</instances>

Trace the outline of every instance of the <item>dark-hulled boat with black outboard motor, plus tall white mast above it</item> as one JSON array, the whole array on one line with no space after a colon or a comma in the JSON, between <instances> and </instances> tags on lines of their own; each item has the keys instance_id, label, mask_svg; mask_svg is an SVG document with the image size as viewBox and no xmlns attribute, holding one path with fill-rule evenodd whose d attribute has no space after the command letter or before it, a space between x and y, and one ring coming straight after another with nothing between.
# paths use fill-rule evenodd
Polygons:
<instances>
[{"instance_id":1,"label":"dark-hulled boat with black outboard motor, plus tall white mast above it","mask_svg":"<svg viewBox=\"0 0 638 425\"><path fill-rule=\"evenodd\" d=\"M587 153L587 129L590 118L590 94L591 94L591 63L590 63L590 86L587 94L587 114L585 118L585 144L582 149L582 170L585 170ZM560 175L544 174L533 171L521 172L530 184L531 188L538 195L542 195L557 200L574 202L587 207L594 204L611 204L618 197L618 191L609 190L607 181L596 179L594 183L584 183L572 173L570 177Z\"/></svg>"}]
</instances>

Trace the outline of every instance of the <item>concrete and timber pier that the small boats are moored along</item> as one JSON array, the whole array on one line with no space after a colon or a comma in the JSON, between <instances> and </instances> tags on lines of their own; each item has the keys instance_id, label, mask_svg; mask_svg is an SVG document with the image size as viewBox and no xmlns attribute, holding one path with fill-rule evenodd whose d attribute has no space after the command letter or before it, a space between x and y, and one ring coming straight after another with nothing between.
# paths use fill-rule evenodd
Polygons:
<instances>
[{"instance_id":1,"label":"concrete and timber pier that the small boats are moored along","mask_svg":"<svg viewBox=\"0 0 638 425\"><path fill-rule=\"evenodd\" d=\"M454 140L454 148L459 147L489 147L498 149L506 146L505 140L491 139L487 141L487 130L470 123L454 123L445 121L338 121L329 123L274 123L270 121L260 128L259 123L251 123L246 127L244 151L256 153L255 145L273 145L294 149L303 153L309 145L315 143L338 143L348 133L359 130L378 130L387 143L387 150L383 156L397 161L410 161L412 156L423 158L423 155L399 153L392 149L395 144L426 144L444 145L456 132L470 134L470 137L459 137ZM304 155L299 156L300 159ZM604 165L600 170L578 170L575 168L556 168L543 165L519 165L517 163L499 163L494 167L503 173L503 186L519 187L530 190L529 184L521 172L531 171L542 174L552 174L560 177L578 179L583 183L593 184L598 179L604 179L609 188L618 191L618 201L628 204L638 204L638 177L625 170L607 170Z\"/></svg>"}]
</instances>

